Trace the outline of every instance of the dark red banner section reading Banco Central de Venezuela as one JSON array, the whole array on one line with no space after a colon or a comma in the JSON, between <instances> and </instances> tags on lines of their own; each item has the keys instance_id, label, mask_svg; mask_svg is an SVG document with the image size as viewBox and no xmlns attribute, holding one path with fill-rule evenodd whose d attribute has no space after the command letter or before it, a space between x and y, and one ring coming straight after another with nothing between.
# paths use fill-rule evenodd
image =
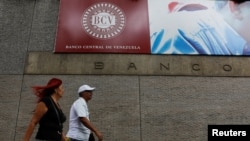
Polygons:
<instances>
[{"instance_id":1,"label":"dark red banner section reading Banco Central de Venezuela","mask_svg":"<svg viewBox=\"0 0 250 141\"><path fill-rule=\"evenodd\" d=\"M55 52L150 53L145 0L61 0Z\"/></svg>"}]
</instances>

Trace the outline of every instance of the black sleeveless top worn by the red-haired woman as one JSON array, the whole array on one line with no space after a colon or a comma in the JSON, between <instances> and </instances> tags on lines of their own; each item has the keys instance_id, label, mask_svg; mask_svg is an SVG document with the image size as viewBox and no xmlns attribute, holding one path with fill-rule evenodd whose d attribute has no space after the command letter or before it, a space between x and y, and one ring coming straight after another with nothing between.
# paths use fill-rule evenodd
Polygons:
<instances>
[{"instance_id":1,"label":"black sleeveless top worn by the red-haired woman","mask_svg":"<svg viewBox=\"0 0 250 141\"><path fill-rule=\"evenodd\" d=\"M48 111L39 121L40 126L36 134L36 139L61 141L63 123L66 121L66 116L62 110L56 106L56 103L54 103L51 97L44 97L41 102L45 103Z\"/></svg>"}]
</instances>

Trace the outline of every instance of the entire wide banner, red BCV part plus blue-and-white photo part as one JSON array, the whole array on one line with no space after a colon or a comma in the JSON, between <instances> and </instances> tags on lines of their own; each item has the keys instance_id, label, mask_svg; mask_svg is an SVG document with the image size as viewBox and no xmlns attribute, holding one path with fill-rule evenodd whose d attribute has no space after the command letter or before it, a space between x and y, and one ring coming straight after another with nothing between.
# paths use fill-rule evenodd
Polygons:
<instances>
[{"instance_id":1,"label":"entire wide banner, red BCV part plus blue-and-white photo part","mask_svg":"<svg viewBox=\"0 0 250 141\"><path fill-rule=\"evenodd\" d=\"M249 3L61 0L55 52L249 55Z\"/></svg>"}]
</instances>

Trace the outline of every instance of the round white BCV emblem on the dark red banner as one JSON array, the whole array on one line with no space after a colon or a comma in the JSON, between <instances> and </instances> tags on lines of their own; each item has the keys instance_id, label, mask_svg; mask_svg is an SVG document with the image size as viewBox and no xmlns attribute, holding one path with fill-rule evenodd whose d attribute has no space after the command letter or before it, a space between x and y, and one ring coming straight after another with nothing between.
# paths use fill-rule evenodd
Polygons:
<instances>
[{"instance_id":1,"label":"round white BCV emblem on the dark red banner","mask_svg":"<svg viewBox=\"0 0 250 141\"><path fill-rule=\"evenodd\" d=\"M118 36L126 25L125 14L111 3L96 3L85 10L82 16L84 31L93 38L110 39Z\"/></svg>"}]
</instances>

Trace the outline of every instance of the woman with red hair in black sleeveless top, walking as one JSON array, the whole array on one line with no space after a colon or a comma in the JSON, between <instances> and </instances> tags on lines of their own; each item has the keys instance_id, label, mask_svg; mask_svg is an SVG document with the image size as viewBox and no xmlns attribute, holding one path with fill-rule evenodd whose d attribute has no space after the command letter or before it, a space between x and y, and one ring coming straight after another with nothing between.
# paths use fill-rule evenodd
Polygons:
<instances>
[{"instance_id":1,"label":"woman with red hair in black sleeveless top, walking","mask_svg":"<svg viewBox=\"0 0 250 141\"><path fill-rule=\"evenodd\" d=\"M23 141L30 140L38 123L37 141L64 141L63 123L66 121L66 116L58 104L64 93L62 80L52 78L46 86L33 86L32 88L38 102Z\"/></svg>"}]
</instances>

